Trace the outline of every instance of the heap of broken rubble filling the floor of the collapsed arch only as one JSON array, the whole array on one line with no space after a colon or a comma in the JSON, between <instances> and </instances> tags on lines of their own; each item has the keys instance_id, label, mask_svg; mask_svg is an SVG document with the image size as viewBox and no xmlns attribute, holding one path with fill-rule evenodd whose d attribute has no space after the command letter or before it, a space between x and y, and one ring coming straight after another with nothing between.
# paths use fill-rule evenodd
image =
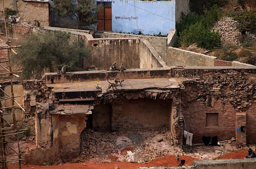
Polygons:
<instances>
[{"instance_id":1,"label":"heap of broken rubble filling the floor of the collapsed arch only","mask_svg":"<svg viewBox=\"0 0 256 169\"><path fill-rule=\"evenodd\" d=\"M99 157L110 162L146 162L175 154L180 148L172 146L170 131L166 127L137 131L101 133L87 130L81 134L80 155L85 158Z\"/></svg>"}]
</instances>

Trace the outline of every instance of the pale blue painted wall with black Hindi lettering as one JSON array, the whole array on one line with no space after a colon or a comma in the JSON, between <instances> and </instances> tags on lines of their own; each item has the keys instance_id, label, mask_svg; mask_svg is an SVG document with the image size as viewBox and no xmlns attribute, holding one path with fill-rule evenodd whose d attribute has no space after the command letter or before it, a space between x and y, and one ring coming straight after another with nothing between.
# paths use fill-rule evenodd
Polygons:
<instances>
[{"instance_id":1,"label":"pale blue painted wall with black Hindi lettering","mask_svg":"<svg viewBox=\"0 0 256 169\"><path fill-rule=\"evenodd\" d=\"M107 1L107 0L105 0ZM175 29L175 1L112 1L112 32L168 34Z\"/></svg>"}]
</instances>

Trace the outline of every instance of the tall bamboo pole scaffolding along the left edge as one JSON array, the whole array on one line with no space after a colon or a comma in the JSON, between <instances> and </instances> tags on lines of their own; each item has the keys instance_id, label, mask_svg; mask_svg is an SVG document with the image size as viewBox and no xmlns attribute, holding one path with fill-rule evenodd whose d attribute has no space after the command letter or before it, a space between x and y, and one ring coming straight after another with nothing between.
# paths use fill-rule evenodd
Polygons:
<instances>
[{"instance_id":1,"label":"tall bamboo pole scaffolding along the left edge","mask_svg":"<svg viewBox=\"0 0 256 169\"><path fill-rule=\"evenodd\" d=\"M3 9L4 9L4 0L2 0L3 3ZM5 18L5 12L3 10L3 16ZM4 93L6 96L1 97L0 95L0 101L3 100L7 100L7 99L11 99L11 106L6 106L6 107L0 107L0 168L1 169L8 169L7 166L7 162L11 162L11 161L19 161L19 169L22 169L21 166L21 160L24 160L24 158L22 157L21 153L21 149L20 149L20 145L19 145L19 134L23 133L26 129L22 129L19 130L16 124L16 117L15 117L15 113L14 110L17 105L23 110L23 107L15 100L15 98L20 97L20 96L14 96L14 89L13 89L13 75L16 77L19 77L19 75L16 75L16 73L20 73L22 71L16 71L13 72L12 71L12 67L11 67L11 63L10 61L10 51L12 51L14 54L17 55L17 53L13 50L13 48L18 48L21 46L9 46L8 44L11 43L11 41L8 41L8 36L7 36L7 24L6 24L6 20L4 20L4 25L5 25L5 35L6 35L6 41L1 40L0 39L0 50L4 50L7 49L7 54L8 54L8 58L7 57L1 57L0 56L0 67L2 67L3 69L0 71L6 71L3 73L0 73L0 75L7 75L7 76L1 76L0 78L8 78L8 80L10 80L11 83L11 93L8 94L6 93L3 89L1 89L3 86L0 85L0 92ZM3 34L3 33L0 33ZM2 64L5 63L5 64ZM6 79L1 79L1 81L5 81ZM15 105L16 104L16 105ZM0 105L1 106L1 105ZM11 109L12 112L12 120L13 120L13 126L3 117L5 111L2 111L3 109ZM4 122L7 123L10 127L4 127ZM11 136L11 135L15 135L17 138L17 144L18 144L18 151L14 150L9 143L12 142L8 142L5 141L5 137L7 136ZM7 151L7 146L15 153L15 154L6 154ZM18 159L15 160L7 160L7 157L13 157L13 156L18 156Z\"/></svg>"}]
</instances>

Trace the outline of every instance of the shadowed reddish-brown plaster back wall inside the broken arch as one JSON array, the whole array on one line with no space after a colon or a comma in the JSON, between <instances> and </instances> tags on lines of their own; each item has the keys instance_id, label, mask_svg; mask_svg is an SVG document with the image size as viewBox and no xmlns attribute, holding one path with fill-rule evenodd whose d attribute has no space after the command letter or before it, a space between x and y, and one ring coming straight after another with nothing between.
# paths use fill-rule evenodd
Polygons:
<instances>
[{"instance_id":1,"label":"shadowed reddish-brown plaster back wall inside the broken arch","mask_svg":"<svg viewBox=\"0 0 256 169\"><path fill-rule=\"evenodd\" d=\"M167 127L168 116L168 103L165 101L150 98L129 100L122 107L122 129Z\"/></svg>"}]
</instances>

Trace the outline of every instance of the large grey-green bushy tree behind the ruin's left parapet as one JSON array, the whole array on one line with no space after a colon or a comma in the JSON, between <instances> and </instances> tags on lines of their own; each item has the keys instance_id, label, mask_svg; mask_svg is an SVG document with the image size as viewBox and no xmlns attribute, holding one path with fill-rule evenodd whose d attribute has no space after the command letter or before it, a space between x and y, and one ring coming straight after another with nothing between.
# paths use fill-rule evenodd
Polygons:
<instances>
[{"instance_id":1,"label":"large grey-green bushy tree behind the ruin's left parapet","mask_svg":"<svg viewBox=\"0 0 256 169\"><path fill-rule=\"evenodd\" d=\"M67 71L82 71L84 57L90 55L81 41L71 41L70 32L64 31L31 34L17 53L11 61L22 68L22 79L41 79L44 72L57 72L64 65Z\"/></svg>"}]
</instances>

